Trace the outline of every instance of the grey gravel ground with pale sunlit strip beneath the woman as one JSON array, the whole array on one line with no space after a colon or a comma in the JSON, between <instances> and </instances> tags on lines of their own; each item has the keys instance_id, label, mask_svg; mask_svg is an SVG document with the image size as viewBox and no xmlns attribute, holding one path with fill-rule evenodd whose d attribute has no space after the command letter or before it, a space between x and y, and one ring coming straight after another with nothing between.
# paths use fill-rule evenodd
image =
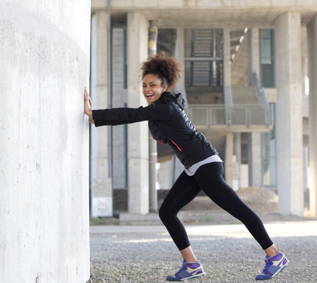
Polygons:
<instances>
[{"instance_id":1,"label":"grey gravel ground with pale sunlit strip beneath the woman","mask_svg":"<svg viewBox=\"0 0 317 283\"><path fill-rule=\"evenodd\" d=\"M279 220L276 216L274 219ZM269 282L316 282L317 221L286 221L266 224L266 228L291 261ZM243 225L196 225L186 229L206 272L188 282L256 282L254 276L264 267L264 254ZM93 283L163 283L167 282L166 275L174 274L181 266L180 254L162 226L91 227L90 239L89 281Z\"/></svg>"}]
</instances>

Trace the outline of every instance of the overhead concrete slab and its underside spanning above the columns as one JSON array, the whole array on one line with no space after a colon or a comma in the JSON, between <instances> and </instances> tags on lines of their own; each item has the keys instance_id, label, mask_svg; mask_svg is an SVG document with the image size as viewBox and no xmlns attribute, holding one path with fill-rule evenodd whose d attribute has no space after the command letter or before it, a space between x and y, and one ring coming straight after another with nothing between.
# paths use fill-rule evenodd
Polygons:
<instances>
[{"instance_id":1,"label":"overhead concrete slab and its underside spanning above the columns","mask_svg":"<svg viewBox=\"0 0 317 283\"><path fill-rule=\"evenodd\" d=\"M106 8L106 0L91 1L92 12ZM125 23L130 11L142 12L149 20L159 20L161 28L263 28L274 27L276 18L288 11L300 12L302 25L307 25L317 12L317 0L112 0L113 24Z\"/></svg>"}]
</instances>

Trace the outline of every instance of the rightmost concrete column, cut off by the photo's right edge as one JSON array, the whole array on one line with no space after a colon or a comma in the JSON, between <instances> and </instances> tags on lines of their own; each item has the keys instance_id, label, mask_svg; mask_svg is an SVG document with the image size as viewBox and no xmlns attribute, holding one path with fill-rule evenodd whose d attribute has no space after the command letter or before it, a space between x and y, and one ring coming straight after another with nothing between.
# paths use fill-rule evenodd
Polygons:
<instances>
[{"instance_id":1,"label":"rightmost concrete column, cut off by the photo's right edge","mask_svg":"<svg viewBox=\"0 0 317 283\"><path fill-rule=\"evenodd\" d=\"M309 207L311 217L317 217L317 15L307 26L309 78Z\"/></svg>"}]
</instances>

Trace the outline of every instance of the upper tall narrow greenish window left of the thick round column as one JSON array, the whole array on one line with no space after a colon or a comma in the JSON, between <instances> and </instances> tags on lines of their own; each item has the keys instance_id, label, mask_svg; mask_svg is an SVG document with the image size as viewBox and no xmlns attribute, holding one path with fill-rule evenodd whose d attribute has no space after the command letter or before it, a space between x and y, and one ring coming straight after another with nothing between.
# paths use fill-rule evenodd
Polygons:
<instances>
[{"instance_id":1,"label":"upper tall narrow greenish window left of the thick round column","mask_svg":"<svg viewBox=\"0 0 317 283\"><path fill-rule=\"evenodd\" d=\"M261 83L264 87L275 87L274 29L260 29Z\"/></svg>"}]
</instances>

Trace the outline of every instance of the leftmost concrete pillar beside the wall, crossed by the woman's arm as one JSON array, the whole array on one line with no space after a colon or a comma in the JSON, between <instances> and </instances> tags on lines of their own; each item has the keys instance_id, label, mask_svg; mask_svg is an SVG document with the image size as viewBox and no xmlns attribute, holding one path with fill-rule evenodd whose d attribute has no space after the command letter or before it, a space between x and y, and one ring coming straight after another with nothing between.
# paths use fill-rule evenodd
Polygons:
<instances>
[{"instance_id":1,"label":"leftmost concrete pillar beside the wall, crossed by the woman's arm","mask_svg":"<svg viewBox=\"0 0 317 283\"><path fill-rule=\"evenodd\" d=\"M91 21L91 89L94 109L108 106L106 11L98 11ZM110 127L91 127L91 215L112 216L112 179L109 175L108 131Z\"/></svg>"}]
</instances>

